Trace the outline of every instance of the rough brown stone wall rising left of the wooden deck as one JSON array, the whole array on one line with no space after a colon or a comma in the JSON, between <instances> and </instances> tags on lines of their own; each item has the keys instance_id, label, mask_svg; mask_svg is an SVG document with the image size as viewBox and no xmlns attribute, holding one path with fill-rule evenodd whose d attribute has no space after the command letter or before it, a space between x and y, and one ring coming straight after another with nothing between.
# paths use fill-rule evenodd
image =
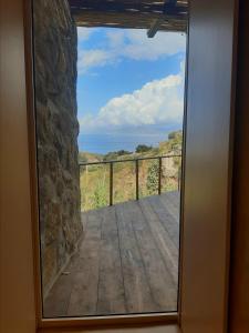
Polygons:
<instances>
[{"instance_id":1,"label":"rough brown stone wall rising left of the wooden deck","mask_svg":"<svg viewBox=\"0 0 249 333\"><path fill-rule=\"evenodd\" d=\"M34 0L34 73L43 294L82 234L76 27L66 0Z\"/></svg>"}]
</instances>

